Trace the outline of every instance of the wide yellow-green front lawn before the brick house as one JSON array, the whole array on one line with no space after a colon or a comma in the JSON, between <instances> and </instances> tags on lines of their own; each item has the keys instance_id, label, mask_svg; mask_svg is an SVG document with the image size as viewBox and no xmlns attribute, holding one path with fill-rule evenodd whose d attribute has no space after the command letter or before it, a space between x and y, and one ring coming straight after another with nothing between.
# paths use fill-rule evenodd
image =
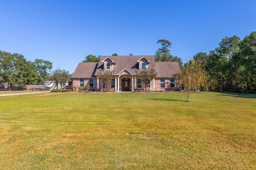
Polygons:
<instances>
[{"instance_id":1,"label":"wide yellow-green front lawn before the brick house","mask_svg":"<svg viewBox=\"0 0 256 170\"><path fill-rule=\"evenodd\" d=\"M217 96L219 95L219 98ZM0 169L256 169L256 95L0 97Z\"/></svg>"}]
</instances>

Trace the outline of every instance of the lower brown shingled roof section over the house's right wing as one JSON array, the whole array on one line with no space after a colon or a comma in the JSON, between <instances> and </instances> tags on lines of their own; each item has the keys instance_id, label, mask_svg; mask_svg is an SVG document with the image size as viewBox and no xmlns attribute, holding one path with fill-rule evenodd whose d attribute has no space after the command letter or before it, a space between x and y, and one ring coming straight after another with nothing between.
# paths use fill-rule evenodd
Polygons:
<instances>
[{"instance_id":1,"label":"lower brown shingled roof section over the house's right wing","mask_svg":"<svg viewBox=\"0 0 256 170\"><path fill-rule=\"evenodd\" d=\"M178 61L155 62L157 77L173 77L180 70Z\"/></svg>"}]
</instances>

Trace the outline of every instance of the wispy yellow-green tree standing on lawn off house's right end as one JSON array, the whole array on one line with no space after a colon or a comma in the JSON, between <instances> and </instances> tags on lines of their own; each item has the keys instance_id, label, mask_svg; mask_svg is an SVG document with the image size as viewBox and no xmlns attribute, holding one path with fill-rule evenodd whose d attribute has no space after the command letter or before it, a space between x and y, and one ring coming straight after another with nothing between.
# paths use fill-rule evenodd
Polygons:
<instances>
[{"instance_id":1,"label":"wispy yellow-green tree standing on lawn off house's right end","mask_svg":"<svg viewBox=\"0 0 256 170\"><path fill-rule=\"evenodd\" d=\"M182 86L186 91L186 102L188 102L188 97L191 90L208 90L208 80L209 75L206 72L204 66L192 59L184 65L181 72L176 74L176 78L180 80Z\"/></svg>"}]
</instances>

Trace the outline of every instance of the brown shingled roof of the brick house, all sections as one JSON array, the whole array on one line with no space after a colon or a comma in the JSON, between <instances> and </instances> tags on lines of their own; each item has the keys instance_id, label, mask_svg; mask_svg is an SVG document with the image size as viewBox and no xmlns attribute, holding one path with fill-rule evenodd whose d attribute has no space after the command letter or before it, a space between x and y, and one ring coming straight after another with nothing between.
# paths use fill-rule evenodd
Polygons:
<instances>
[{"instance_id":1,"label":"brown shingled roof of the brick house, all sections","mask_svg":"<svg viewBox=\"0 0 256 170\"><path fill-rule=\"evenodd\" d=\"M180 70L179 63L173 62L155 62L153 55L145 56L102 56L99 63L79 63L74 71L72 78L95 78L100 70L103 70L104 59L111 59L115 62L114 74L122 72L126 69L132 74L136 74L138 68L138 60L143 57L150 61L150 68L153 68L157 72L157 77L172 77L178 70Z\"/></svg>"}]
</instances>

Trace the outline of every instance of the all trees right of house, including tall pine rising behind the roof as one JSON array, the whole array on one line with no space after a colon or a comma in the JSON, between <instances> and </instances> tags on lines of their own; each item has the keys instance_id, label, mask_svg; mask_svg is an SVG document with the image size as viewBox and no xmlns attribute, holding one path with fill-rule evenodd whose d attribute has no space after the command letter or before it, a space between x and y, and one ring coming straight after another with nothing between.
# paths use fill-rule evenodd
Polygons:
<instances>
[{"instance_id":1,"label":"all trees right of house, including tall pine rising behind the roof","mask_svg":"<svg viewBox=\"0 0 256 170\"><path fill-rule=\"evenodd\" d=\"M225 37L219 47L209 54L199 52L187 63L172 56L172 43L160 39L162 48L155 54L156 61L178 61L181 71L175 75L183 88L216 92L256 93L256 31L241 40L236 35Z\"/></svg>"}]
</instances>

